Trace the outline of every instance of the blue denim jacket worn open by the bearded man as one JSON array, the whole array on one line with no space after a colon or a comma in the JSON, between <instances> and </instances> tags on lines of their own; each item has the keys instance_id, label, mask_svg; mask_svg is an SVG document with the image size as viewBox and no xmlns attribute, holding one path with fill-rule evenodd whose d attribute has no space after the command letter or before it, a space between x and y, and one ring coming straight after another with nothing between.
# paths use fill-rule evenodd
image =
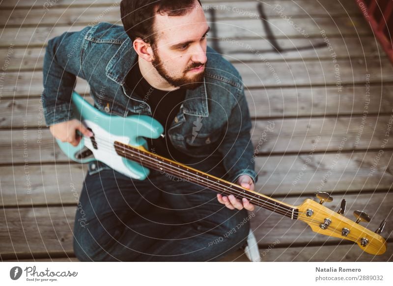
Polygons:
<instances>
[{"instance_id":1,"label":"blue denim jacket worn open by the bearded man","mask_svg":"<svg viewBox=\"0 0 393 286\"><path fill-rule=\"evenodd\" d=\"M70 99L76 76L88 82L95 106L102 112L151 116L143 96L125 84L137 57L123 27L110 23L50 39L42 93L47 126L73 118ZM234 182L241 174L248 174L256 182L252 125L240 74L210 47L207 58L204 84L187 90L167 134L176 148L190 156L223 156L227 180Z\"/></svg>"}]
</instances>

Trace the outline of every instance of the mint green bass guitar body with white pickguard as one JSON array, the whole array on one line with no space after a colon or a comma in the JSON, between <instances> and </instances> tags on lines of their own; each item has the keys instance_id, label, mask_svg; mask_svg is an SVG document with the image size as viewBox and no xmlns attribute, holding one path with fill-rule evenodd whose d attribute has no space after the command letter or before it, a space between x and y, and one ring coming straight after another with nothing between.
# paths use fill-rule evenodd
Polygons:
<instances>
[{"instance_id":1,"label":"mint green bass guitar body with white pickguard","mask_svg":"<svg viewBox=\"0 0 393 286\"><path fill-rule=\"evenodd\" d=\"M82 137L78 146L57 140L60 149L70 159L79 163L98 160L117 172L139 180L144 180L148 176L149 169L117 155L113 144L118 141L135 147L143 146L147 150L147 142L144 138L155 139L164 132L160 122L148 115L121 117L105 114L85 101L75 91L72 94L72 105L75 117L91 129L94 137ZM93 153L94 158L81 158L86 148Z\"/></svg>"}]
</instances>

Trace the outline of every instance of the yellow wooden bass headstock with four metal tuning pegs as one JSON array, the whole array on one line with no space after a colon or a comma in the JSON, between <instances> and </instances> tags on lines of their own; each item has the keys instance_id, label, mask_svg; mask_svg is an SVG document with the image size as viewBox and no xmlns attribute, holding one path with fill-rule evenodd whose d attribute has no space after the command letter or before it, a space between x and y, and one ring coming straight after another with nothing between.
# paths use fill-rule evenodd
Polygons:
<instances>
[{"instance_id":1,"label":"yellow wooden bass headstock with four metal tuning pegs","mask_svg":"<svg viewBox=\"0 0 393 286\"><path fill-rule=\"evenodd\" d=\"M320 192L316 196L320 202L305 200L300 206L298 220L307 223L310 228L320 234L334 236L356 242L365 252L373 255L381 255L386 251L386 241L380 236L385 226L385 221L373 232L359 223L369 222L369 216L362 211L355 211L356 221L352 221L342 214L345 209L345 200L342 201L338 212L322 205L325 201L333 200L328 193Z\"/></svg>"}]
</instances>

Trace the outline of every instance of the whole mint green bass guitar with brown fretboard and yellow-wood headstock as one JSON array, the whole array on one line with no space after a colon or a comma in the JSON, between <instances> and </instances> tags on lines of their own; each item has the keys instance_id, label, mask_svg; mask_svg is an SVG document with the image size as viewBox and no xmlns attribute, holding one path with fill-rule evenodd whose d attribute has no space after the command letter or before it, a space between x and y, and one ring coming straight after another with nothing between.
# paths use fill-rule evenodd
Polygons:
<instances>
[{"instance_id":1,"label":"whole mint green bass guitar with brown fretboard and yellow-wood headstock","mask_svg":"<svg viewBox=\"0 0 393 286\"><path fill-rule=\"evenodd\" d=\"M145 138L158 138L164 132L162 125L147 115L128 117L104 114L85 101L78 93L72 94L73 110L77 118L94 134L84 137L78 146L57 141L61 150L72 160L87 163L99 160L112 169L131 178L143 180L154 169L179 179L185 179L225 196L247 198L254 205L273 211L292 220L300 220L319 234L353 241L366 253L381 255L386 251L386 241L380 236L386 221L376 231L361 226L370 217L363 211L354 211L356 221L343 216L345 200L335 212L323 205L332 201L326 192L316 194L319 202L307 199L293 206L260 193L243 188L189 166L169 160L148 151ZM91 156L94 155L94 158Z\"/></svg>"}]
</instances>

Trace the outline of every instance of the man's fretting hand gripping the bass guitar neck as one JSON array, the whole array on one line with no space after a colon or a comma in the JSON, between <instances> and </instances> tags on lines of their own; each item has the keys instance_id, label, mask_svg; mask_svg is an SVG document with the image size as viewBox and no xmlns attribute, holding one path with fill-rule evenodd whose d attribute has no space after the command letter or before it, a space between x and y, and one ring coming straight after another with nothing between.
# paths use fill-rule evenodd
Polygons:
<instances>
[{"instance_id":1,"label":"man's fretting hand gripping the bass guitar neck","mask_svg":"<svg viewBox=\"0 0 393 286\"><path fill-rule=\"evenodd\" d=\"M249 175L241 175L237 179L237 184L242 186L243 188L254 190L254 182L253 179ZM238 200L233 195L229 195L228 197L223 196L221 194L217 194L217 199L220 203L225 204L225 206L229 209L243 209L243 207L249 211L254 210L254 205L250 203L249 200L243 198L242 200Z\"/></svg>"}]
</instances>

